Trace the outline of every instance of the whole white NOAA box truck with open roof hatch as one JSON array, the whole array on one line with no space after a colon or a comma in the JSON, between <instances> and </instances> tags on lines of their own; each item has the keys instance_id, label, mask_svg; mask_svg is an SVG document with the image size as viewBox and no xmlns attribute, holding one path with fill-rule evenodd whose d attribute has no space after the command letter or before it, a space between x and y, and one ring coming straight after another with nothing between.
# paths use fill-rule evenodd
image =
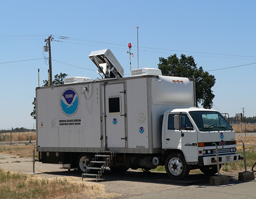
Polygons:
<instances>
[{"instance_id":1,"label":"whole white NOAA box truck with open roof hatch","mask_svg":"<svg viewBox=\"0 0 256 199\"><path fill-rule=\"evenodd\" d=\"M124 78L110 49L89 57L102 79L70 77L36 88L40 162L81 173L99 169L88 173L97 176L106 166L121 172L165 165L170 178L182 179L190 169L217 172L214 143L220 164L240 160L222 114L195 107L194 80L154 68L133 69Z\"/></svg>"}]
</instances>

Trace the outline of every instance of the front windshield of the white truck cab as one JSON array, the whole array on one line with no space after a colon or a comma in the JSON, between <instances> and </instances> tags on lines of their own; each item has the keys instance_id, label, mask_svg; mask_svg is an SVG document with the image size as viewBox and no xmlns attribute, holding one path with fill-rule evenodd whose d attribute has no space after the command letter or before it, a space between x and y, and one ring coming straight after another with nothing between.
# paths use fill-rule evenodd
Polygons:
<instances>
[{"instance_id":1,"label":"front windshield of the white truck cab","mask_svg":"<svg viewBox=\"0 0 256 199\"><path fill-rule=\"evenodd\" d=\"M219 113L214 111L190 111L200 131L232 131L229 123Z\"/></svg>"}]
</instances>

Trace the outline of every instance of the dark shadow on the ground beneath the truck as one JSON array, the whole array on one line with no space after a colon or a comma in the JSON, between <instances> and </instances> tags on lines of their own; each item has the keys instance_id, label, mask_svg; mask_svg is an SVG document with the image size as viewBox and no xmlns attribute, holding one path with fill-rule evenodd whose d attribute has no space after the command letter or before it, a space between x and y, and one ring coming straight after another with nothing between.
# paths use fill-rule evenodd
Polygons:
<instances>
[{"instance_id":1,"label":"dark shadow on the ground beneath the truck","mask_svg":"<svg viewBox=\"0 0 256 199\"><path fill-rule=\"evenodd\" d=\"M53 176L72 176L81 178L81 174L76 170L71 171L55 171L55 172L43 172L47 175ZM216 175L217 176L217 175ZM190 174L184 180L172 180L170 179L165 172L142 172L138 170L128 170L122 173L115 173L110 169L106 169L100 179L99 183L111 182L111 181L131 181L131 182L143 182L143 183L158 183L158 184L170 184L170 185L180 185L180 186L210 186L210 177L203 174ZM246 181L239 181L238 178L229 176L229 184L241 184ZM82 178L81 178L82 180ZM84 178L83 181L96 182L95 177Z\"/></svg>"}]
</instances>

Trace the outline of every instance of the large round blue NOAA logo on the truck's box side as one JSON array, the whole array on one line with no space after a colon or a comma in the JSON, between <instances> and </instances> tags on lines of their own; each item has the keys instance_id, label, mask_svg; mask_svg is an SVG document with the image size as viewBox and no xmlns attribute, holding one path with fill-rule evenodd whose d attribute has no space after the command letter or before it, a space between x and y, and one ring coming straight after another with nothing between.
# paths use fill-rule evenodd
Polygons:
<instances>
[{"instance_id":1,"label":"large round blue NOAA logo on the truck's box side","mask_svg":"<svg viewBox=\"0 0 256 199\"><path fill-rule=\"evenodd\" d=\"M79 105L78 94L72 88L67 88L60 97L60 106L62 112L68 116L76 113Z\"/></svg>"}]
</instances>

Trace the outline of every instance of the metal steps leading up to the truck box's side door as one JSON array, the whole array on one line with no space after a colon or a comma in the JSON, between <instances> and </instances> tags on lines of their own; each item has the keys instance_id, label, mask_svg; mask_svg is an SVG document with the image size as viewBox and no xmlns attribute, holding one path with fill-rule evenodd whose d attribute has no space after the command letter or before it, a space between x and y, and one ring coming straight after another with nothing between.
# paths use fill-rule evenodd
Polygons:
<instances>
[{"instance_id":1,"label":"metal steps leading up to the truck box's side door","mask_svg":"<svg viewBox=\"0 0 256 199\"><path fill-rule=\"evenodd\" d=\"M105 153L110 153L110 155L102 155ZM92 176L96 177L96 182L98 182L98 179L102 176L102 173L106 169L107 166L109 166L110 161L115 156L115 152L97 152L97 154L94 156L92 161L89 163L89 166L86 168L84 173L82 173L82 181L86 176ZM99 158L106 158L106 161L97 161ZM101 164L100 167L93 167L94 164ZM98 170L98 173L88 173L90 170Z\"/></svg>"}]
</instances>

